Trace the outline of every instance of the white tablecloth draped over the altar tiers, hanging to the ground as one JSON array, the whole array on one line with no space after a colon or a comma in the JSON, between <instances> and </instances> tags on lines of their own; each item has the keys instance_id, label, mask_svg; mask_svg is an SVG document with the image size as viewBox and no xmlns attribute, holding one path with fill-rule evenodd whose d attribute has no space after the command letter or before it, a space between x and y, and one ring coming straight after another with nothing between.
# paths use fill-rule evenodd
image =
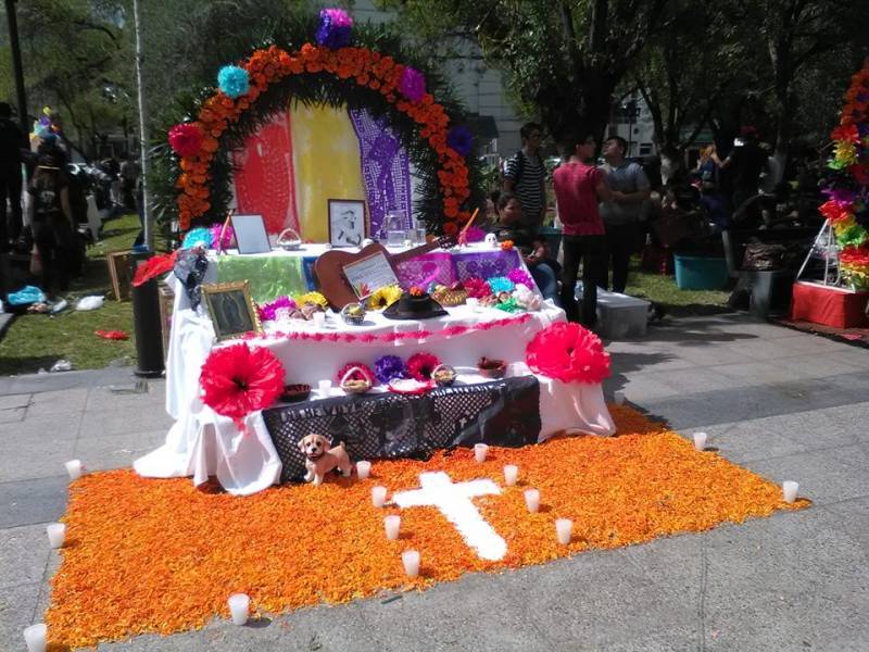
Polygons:
<instances>
[{"instance_id":1,"label":"white tablecloth draped over the altar tiers, hanging to the ground","mask_svg":"<svg viewBox=\"0 0 869 652\"><path fill-rule=\"evenodd\" d=\"M137 460L134 467L146 477L192 476L197 485L215 475L221 485L235 494L261 491L279 480L281 469L262 415L257 412L248 417L245 425L249 434L245 436L230 419L202 404L199 374L202 363L215 346L214 329L202 306L193 311L180 284L172 278L169 281L175 284L176 291L166 364L166 410L176 423L166 442ZM476 373L476 362L482 355L509 362L511 374L530 373L524 363L526 344L539 330L565 318L564 311L544 304L542 310L528 313L530 318L524 323L449 337L443 329L450 326L474 327L512 316L496 309L475 312L466 305L451 308L449 313L443 317L420 322L392 321L382 314L369 313L362 326L348 326L333 315L329 319L331 328L316 329L313 323L297 321L277 323L270 327L272 331L294 329L297 333L324 335L353 333L383 336L390 333L428 331L423 334L425 339L421 340L410 338L385 342L378 337L374 342L333 342L275 335L249 340L249 344L266 347L280 359L287 384L305 383L317 387L320 379L333 379L336 373L349 362L363 362L373 367L375 360L387 353L406 360L418 351L433 353L445 364L456 367L458 381L481 383L486 379ZM219 346L228 343L232 342ZM544 376L538 376L538 380L542 424L539 441L558 431L601 436L615 432L615 424L606 409L600 385L567 385ZM340 393L341 390L332 388L331 391Z\"/></svg>"}]
</instances>

